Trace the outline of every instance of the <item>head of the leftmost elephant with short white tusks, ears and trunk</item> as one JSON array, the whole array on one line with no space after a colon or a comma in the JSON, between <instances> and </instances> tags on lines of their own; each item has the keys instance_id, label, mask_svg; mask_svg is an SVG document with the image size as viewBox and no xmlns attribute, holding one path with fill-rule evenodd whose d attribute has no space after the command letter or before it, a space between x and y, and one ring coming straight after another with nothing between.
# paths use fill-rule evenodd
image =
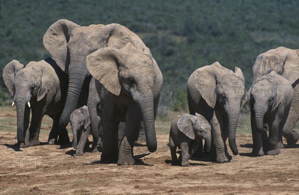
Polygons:
<instances>
[{"instance_id":1,"label":"head of the leftmost elephant with short white tusks, ears and trunk","mask_svg":"<svg viewBox=\"0 0 299 195\"><path fill-rule=\"evenodd\" d=\"M24 142L24 124L28 124L30 103L42 101L48 91L59 84L58 77L49 63L55 63L52 58L39 62L29 62L25 68L19 61L9 62L3 69L3 81L13 97L17 111L17 141Z\"/></svg>"}]
</instances>

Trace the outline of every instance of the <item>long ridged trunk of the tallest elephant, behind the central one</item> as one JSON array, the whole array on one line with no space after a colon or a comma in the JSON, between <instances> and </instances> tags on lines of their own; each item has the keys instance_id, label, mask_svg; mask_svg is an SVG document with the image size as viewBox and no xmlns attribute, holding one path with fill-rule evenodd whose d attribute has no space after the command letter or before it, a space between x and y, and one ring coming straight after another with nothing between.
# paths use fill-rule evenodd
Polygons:
<instances>
[{"instance_id":1,"label":"long ridged trunk of the tallest elephant, behind the central one","mask_svg":"<svg viewBox=\"0 0 299 195\"><path fill-rule=\"evenodd\" d=\"M85 78L88 75L86 68L86 58L72 60L69 65L69 84L67 97L64 105L63 112L59 120L59 131L62 133L67 123L69 122L71 113L76 109L80 97L81 89ZM85 67L85 68L80 68ZM86 69L86 70L85 70Z\"/></svg>"}]
</instances>

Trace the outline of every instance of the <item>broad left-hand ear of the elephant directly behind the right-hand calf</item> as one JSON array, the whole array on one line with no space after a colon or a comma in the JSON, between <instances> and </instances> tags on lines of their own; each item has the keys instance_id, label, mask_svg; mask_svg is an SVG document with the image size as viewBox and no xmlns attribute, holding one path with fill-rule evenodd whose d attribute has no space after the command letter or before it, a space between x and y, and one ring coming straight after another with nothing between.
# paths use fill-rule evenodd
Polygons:
<instances>
[{"instance_id":1,"label":"broad left-hand ear of the elephant directly behind the right-hand calf","mask_svg":"<svg viewBox=\"0 0 299 195\"><path fill-rule=\"evenodd\" d=\"M196 70L195 87L199 91L200 95L207 104L214 108L216 104L216 85L217 74L221 72L223 67L219 62L215 62L212 65L204 66Z\"/></svg>"}]
</instances>

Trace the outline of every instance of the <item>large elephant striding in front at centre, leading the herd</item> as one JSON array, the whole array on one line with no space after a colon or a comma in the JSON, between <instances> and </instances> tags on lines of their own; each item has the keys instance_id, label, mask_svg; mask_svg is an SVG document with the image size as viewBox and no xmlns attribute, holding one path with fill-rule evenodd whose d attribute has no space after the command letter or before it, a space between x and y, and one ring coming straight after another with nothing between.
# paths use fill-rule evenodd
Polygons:
<instances>
[{"instance_id":1,"label":"large elephant striding in front at centre, leading the herd","mask_svg":"<svg viewBox=\"0 0 299 195\"><path fill-rule=\"evenodd\" d=\"M154 119L163 80L149 48L133 32L119 27L125 30L119 35L126 34L127 40L137 44L128 42L122 48L99 49L86 61L89 72L99 83L97 93L101 99L103 124L101 162L118 160L119 165L133 165L133 147L142 120L149 151L157 148ZM126 124L118 152L120 122Z\"/></svg>"}]
</instances>

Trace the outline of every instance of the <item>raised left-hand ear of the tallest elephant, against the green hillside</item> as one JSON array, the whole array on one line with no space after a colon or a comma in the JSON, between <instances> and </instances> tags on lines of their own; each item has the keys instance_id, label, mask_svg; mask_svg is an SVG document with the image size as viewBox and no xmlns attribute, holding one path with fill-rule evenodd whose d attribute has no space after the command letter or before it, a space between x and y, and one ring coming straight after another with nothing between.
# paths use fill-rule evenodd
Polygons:
<instances>
[{"instance_id":1,"label":"raised left-hand ear of the tallest elephant, against the green hillside","mask_svg":"<svg viewBox=\"0 0 299 195\"><path fill-rule=\"evenodd\" d=\"M80 25L67 19L60 19L53 23L43 36L44 47L50 52L57 65L68 74L65 68L70 62L67 51L67 43L70 39L70 31Z\"/></svg>"}]
</instances>

